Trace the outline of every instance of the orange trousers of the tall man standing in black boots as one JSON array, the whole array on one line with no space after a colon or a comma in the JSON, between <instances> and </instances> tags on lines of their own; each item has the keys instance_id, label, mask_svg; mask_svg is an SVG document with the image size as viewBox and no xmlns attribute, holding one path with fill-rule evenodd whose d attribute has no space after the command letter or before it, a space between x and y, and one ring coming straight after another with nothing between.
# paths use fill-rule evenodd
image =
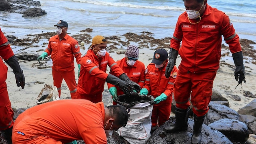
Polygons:
<instances>
[{"instance_id":1,"label":"orange trousers of the tall man standing in black boots","mask_svg":"<svg viewBox=\"0 0 256 144\"><path fill-rule=\"evenodd\" d=\"M187 109L193 105L193 112L197 116L203 116L209 110L213 89L213 80L217 72L189 72L184 66L179 66L178 75L174 85L174 99L176 107Z\"/></svg>"}]
</instances>

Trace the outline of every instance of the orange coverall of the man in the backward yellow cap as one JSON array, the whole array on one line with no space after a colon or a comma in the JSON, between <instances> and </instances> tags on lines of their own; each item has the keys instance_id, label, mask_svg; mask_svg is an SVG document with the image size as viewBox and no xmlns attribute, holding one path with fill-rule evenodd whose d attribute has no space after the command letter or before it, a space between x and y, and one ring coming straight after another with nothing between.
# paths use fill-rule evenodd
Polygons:
<instances>
[{"instance_id":1,"label":"orange coverall of the man in the backward yellow cap","mask_svg":"<svg viewBox=\"0 0 256 144\"><path fill-rule=\"evenodd\" d=\"M98 58L91 49L82 57L80 76L78 79L76 97L90 100L93 103L102 101L102 92L108 74L109 66L115 76L119 77L124 71L117 65L115 60L106 52L106 55Z\"/></svg>"}]
</instances>

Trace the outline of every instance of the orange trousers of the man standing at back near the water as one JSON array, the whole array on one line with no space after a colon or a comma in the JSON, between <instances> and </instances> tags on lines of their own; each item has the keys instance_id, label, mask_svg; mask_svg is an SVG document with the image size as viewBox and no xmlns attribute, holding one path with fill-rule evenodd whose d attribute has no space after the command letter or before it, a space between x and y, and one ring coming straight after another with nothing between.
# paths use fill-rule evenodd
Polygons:
<instances>
[{"instance_id":1,"label":"orange trousers of the man standing at back near the water","mask_svg":"<svg viewBox=\"0 0 256 144\"><path fill-rule=\"evenodd\" d=\"M69 88L71 99L76 99L76 78L75 78L75 70L67 71L67 72L58 72L52 68L52 78L53 85L55 85L59 92L59 97L61 97L61 83L64 79L67 83L67 87Z\"/></svg>"}]
</instances>

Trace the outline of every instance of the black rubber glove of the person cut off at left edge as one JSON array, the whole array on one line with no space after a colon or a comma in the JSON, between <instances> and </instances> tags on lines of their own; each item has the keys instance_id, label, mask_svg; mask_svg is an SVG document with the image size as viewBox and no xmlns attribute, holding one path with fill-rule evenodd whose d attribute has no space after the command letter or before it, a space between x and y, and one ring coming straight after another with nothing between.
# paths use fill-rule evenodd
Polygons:
<instances>
[{"instance_id":1,"label":"black rubber glove of the person cut off at left edge","mask_svg":"<svg viewBox=\"0 0 256 144\"><path fill-rule=\"evenodd\" d=\"M13 69L13 73L15 74L17 86L18 87L21 86L22 89L24 89L25 77L23 74L23 70L20 68L20 64L18 63L17 57L15 55L13 55L9 59L7 59L5 62Z\"/></svg>"}]
</instances>

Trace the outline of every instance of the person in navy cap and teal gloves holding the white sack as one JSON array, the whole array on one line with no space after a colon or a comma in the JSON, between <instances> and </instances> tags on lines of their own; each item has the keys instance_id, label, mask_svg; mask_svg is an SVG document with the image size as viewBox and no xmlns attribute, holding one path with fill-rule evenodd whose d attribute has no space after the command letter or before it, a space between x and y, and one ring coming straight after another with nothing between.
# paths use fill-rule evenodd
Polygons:
<instances>
[{"instance_id":1,"label":"person in navy cap and teal gloves holding the white sack","mask_svg":"<svg viewBox=\"0 0 256 144\"><path fill-rule=\"evenodd\" d=\"M152 127L153 133L158 126L163 125L169 119L171 114L172 93L176 80L178 69L174 66L171 77L165 77L165 67L168 62L168 53L165 49L158 49L154 52L152 62L145 70L146 79L140 94L152 95L156 104L152 110ZM158 122L158 123L157 123Z\"/></svg>"}]
</instances>

